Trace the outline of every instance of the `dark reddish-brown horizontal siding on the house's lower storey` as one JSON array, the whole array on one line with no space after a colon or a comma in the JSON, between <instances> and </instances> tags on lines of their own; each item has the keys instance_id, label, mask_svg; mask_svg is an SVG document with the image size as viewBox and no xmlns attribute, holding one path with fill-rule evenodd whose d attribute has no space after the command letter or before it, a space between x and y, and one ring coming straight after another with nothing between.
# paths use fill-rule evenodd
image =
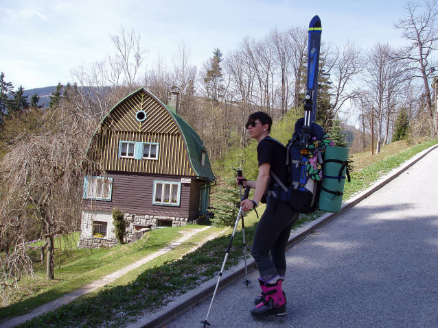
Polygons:
<instances>
[{"instance_id":1,"label":"dark reddish-brown horizontal siding on the house's lower storey","mask_svg":"<svg viewBox=\"0 0 438 328\"><path fill-rule=\"evenodd\" d=\"M181 199L179 206L153 205L152 194L154 181L181 182L174 177L150 177L145 175L121 175L108 173L113 177L113 195L111 201L91 201L84 199L83 210L111 212L113 207L122 212L138 215L173 216L179 218L196 218L198 204L190 200L193 190L198 190L198 184L203 181L192 179L192 184L181 184ZM196 200L196 197L192 197Z\"/></svg>"}]
</instances>

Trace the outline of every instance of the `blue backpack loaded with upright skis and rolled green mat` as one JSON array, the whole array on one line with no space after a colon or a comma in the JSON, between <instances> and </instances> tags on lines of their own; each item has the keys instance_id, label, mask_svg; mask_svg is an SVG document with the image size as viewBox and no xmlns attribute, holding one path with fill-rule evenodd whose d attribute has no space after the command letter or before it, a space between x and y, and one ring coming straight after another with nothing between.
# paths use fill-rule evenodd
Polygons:
<instances>
[{"instance_id":1,"label":"blue backpack loaded with upright skis and rolled green mat","mask_svg":"<svg viewBox=\"0 0 438 328\"><path fill-rule=\"evenodd\" d=\"M316 210L339 212L347 171L348 149L334 147L334 142L316 120L316 97L318 93L319 53L321 48L321 19L314 16L309 24L308 76L304 99L304 117L295 123L295 132L287 144L286 166L289 171L289 186L273 172L277 190L271 197L290 203L297 212L308 214ZM276 140L274 140L276 141ZM326 150L330 149L324 166ZM327 166L327 167L326 167ZM329 175L325 172L329 172ZM323 174L324 173L324 174Z\"/></svg>"}]
</instances>

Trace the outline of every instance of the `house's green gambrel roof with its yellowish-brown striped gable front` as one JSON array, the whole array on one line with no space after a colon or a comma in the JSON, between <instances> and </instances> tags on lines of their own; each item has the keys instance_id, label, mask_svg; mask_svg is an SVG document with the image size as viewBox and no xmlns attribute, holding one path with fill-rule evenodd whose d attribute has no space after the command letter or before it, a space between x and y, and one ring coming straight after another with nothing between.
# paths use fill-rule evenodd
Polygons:
<instances>
[{"instance_id":1,"label":"house's green gambrel roof with its yellowish-brown striped gable front","mask_svg":"<svg viewBox=\"0 0 438 328\"><path fill-rule=\"evenodd\" d=\"M145 116L143 121L137 117L139 112ZM120 158L117 149L121 141L160 144L159 161ZM203 152L204 166L201 165ZM119 101L102 119L91 140L89 154L105 171L216 179L196 131L174 108L145 88Z\"/></svg>"}]
</instances>

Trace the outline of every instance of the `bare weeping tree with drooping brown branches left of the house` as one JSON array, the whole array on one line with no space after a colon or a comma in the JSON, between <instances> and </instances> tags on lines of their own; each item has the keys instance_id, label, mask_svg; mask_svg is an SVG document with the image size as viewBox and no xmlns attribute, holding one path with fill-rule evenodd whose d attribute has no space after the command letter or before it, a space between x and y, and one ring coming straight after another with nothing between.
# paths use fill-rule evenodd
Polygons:
<instances>
[{"instance_id":1,"label":"bare weeping tree with drooping brown branches left of the house","mask_svg":"<svg viewBox=\"0 0 438 328\"><path fill-rule=\"evenodd\" d=\"M47 110L43 127L16 138L1 161L0 220L3 227L14 227L15 236L2 229L1 237L9 240L8 247L18 247L26 228L38 226L42 251L47 248L46 277L54 279L54 236L79 227L82 161L95 120L69 101Z\"/></svg>"}]
</instances>

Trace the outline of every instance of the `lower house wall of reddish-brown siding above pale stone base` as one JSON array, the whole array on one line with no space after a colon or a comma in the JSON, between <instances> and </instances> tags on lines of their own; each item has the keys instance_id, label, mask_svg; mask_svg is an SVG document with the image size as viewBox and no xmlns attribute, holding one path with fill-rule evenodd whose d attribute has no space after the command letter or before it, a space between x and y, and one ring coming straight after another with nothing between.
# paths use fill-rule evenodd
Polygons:
<instances>
[{"instance_id":1,"label":"lower house wall of reddish-brown siding above pale stone base","mask_svg":"<svg viewBox=\"0 0 438 328\"><path fill-rule=\"evenodd\" d=\"M172 222L172 227L177 227L187 225L189 220L198 216L198 197L190 197L190 195L198 194L203 181L192 179L189 184L181 184L180 205L166 206L152 204L154 181L181 182L181 179L176 177L121 175L111 174L111 172L106 176L113 177L111 201L84 199L79 248L111 247L117 244L112 216L113 207L117 207L124 212L126 242L134 238L139 226L151 226L153 228L159 225L159 221L169 221ZM106 238L93 238L93 221L103 221L108 224Z\"/></svg>"}]
</instances>

